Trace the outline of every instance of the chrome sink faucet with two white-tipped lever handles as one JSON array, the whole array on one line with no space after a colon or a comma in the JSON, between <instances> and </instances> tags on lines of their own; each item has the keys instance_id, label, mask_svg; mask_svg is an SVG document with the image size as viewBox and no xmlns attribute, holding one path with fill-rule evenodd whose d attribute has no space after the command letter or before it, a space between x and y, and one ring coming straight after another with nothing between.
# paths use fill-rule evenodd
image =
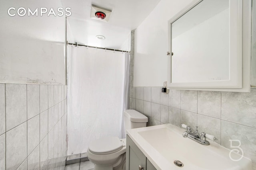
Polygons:
<instances>
[{"instance_id":1,"label":"chrome sink faucet with two white-tipped lever handles","mask_svg":"<svg viewBox=\"0 0 256 170\"><path fill-rule=\"evenodd\" d=\"M202 132L201 135L199 135L198 133L198 126L196 126L196 131L192 132L191 128L185 124L181 124L180 127L186 128L187 130L183 132L182 136L184 138L188 137L190 139L192 139L193 141L196 141L202 145L210 145L209 141L206 141L206 137L208 134ZM216 137L212 136L212 135L208 135L208 137L212 140L217 140Z\"/></svg>"}]
</instances>

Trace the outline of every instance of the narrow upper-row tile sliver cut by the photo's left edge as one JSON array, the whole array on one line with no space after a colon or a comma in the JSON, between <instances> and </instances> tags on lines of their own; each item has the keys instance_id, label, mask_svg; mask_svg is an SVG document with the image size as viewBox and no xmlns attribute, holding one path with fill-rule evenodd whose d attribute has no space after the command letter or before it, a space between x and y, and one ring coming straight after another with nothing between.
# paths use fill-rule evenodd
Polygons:
<instances>
[{"instance_id":1,"label":"narrow upper-row tile sliver cut by the photo's left edge","mask_svg":"<svg viewBox=\"0 0 256 170\"><path fill-rule=\"evenodd\" d=\"M5 87L4 84L0 84L0 135L3 133L5 133Z\"/></svg>"}]
</instances>

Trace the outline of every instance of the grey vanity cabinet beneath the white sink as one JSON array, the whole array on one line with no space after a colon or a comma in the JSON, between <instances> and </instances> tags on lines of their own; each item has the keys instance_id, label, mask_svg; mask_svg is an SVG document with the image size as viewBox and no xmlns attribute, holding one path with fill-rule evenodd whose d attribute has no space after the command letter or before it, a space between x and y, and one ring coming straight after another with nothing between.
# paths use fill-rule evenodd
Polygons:
<instances>
[{"instance_id":1,"label":"grey vanity cabinet beneath the white sink","mask_svg":"<svg viewBox=\"0 0 256 170\"><path fill-rule=\"evenodd\" d=\"M126 170L156 170L132 139L126 135Z\"/></svg>"}]
</instances>

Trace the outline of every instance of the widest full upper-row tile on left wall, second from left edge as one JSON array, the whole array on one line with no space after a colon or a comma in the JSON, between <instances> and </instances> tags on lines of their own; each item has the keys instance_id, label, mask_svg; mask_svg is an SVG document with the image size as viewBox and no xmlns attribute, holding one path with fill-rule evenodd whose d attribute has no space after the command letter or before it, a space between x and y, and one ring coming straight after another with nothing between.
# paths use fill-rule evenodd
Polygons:
<instances>
[{"instance_id":1,"label":"widest full upper-row tile on left wall, second from left edge","mask_svg":"<svg viewBox=\"0 0 256 170\"><path fill-rule=\"evenodd\" d=\"M27 120L26 84L6 84L6 131Z\"/></svg>"}]
</instances>

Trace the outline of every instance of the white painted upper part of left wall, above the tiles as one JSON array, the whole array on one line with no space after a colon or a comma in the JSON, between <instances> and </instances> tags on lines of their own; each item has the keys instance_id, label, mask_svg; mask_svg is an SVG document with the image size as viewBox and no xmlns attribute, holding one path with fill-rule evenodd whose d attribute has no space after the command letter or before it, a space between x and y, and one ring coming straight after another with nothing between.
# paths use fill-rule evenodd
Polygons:
<instances>
[{"instance_id":1,"label":"white painted upper part of left wall, above the tiles","mask_svg":"<svg viewBox=\"0 0 256 170\"><path fill-rule=\"evenodd\" d=\"M65 16L28 16L28 8L61 7L60 0L0 0L0 82L66 84ZM18 8L25 16L9 16Z\"/></svg>"}]
</instances>

